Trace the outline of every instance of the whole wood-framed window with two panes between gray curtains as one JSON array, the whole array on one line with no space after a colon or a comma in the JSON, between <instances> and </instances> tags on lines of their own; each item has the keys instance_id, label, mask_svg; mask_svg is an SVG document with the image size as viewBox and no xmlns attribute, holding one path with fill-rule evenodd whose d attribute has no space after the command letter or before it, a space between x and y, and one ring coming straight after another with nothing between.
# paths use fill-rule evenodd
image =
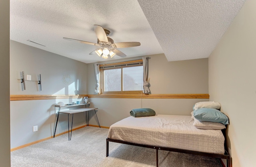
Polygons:
<instances>
[{"instance_id":1,"label":"whole wood-framed window with two panes between gray curtains","mask_svg":"<svg viewBox=\"0 0 256 167\"><path fill-rule=\"evenodd\" d=\"M136 94L143 90L142 60L100 66L102 93Z\"/></svg>"}]
</instances>

